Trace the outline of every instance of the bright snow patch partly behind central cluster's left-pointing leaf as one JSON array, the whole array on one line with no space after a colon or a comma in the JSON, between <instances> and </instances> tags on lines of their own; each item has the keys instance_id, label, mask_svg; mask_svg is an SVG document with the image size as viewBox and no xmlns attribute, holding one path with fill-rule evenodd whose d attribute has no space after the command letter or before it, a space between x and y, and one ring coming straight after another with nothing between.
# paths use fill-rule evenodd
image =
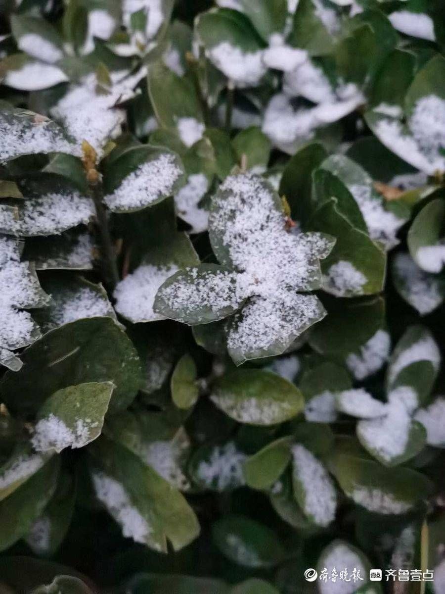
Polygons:
<instances>
[{"instance_id":1,"label":"bright snow patch partly behind central cluster's left-pointing leaf","mask_svg":"<svg viewBox=\"0 0 445 594\"><path fill-rule=\"evenodd\" d=\"M153 311L155 295L159 287L179 268L142 264L117 283L114 297L116 311L132 322L163 320Z\"/></svg>"}]
</instances>

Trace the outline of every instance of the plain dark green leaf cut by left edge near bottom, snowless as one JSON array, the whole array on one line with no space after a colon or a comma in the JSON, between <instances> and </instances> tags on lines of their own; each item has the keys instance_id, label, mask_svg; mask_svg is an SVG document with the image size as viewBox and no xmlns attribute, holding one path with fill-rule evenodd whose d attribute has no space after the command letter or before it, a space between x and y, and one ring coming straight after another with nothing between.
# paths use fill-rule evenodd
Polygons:
<instances>
[{"instance_id":1,"label":"plain dark green leaf cut by left edge near bottom, snowless","mask_svg":"<svg viewBox=\"0 0 445 594\"><path fill-rule=\"evenodd\" d=\"M52 457L0 503L0 551L22 538L40 516L56 488L60 460Z\"/></svg>"}]
</instances>

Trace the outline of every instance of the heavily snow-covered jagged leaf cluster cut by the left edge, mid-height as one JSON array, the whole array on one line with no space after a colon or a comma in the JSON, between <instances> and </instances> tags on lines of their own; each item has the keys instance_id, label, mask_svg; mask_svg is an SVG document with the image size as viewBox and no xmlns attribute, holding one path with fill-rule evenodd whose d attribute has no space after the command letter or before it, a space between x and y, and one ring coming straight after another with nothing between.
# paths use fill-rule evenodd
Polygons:
<instances>
[{"instance_id":1,"label":"heavily snow-covered jagged leaf cluster cut by the left edge, mid-height","mask_svg":"<svg viewBox=\"0 0 445 594\"><path fill-rule=\"evenodd\" d=\"M40 336L27 311L47 305L48 297L27 262L20 261L20 245L0 236L0 362L17 369L11 350L30 345ZM18 365L20 368L20 364Z\"/></svg>"}]
</instances>

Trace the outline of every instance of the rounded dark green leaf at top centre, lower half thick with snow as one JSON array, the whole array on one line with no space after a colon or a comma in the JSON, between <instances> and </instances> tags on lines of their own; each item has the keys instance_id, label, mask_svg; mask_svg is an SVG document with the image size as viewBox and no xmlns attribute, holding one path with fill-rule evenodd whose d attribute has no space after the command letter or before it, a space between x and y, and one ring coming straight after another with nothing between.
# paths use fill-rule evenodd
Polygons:
<instances>
[{"instance_id":1,"label":"rounded dark green leaf at top centre, lower half thick with snow","mask_svg":"<svg viewBox=\"0 0 445 594\"><path fill-rule=\"evenodd\" d=\"M265 42L241 12L220 8L198 15L198 39L212 64L236 86L255 86L266 73Z\"/></svg>"}]
</instances>

